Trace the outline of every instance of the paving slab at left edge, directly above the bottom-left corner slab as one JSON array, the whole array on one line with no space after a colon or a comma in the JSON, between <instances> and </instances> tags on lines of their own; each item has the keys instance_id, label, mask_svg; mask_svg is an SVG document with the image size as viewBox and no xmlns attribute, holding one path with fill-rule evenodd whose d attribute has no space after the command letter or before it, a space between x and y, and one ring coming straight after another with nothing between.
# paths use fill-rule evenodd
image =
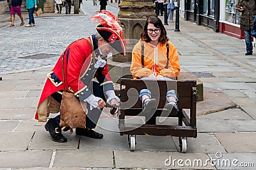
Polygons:
<instances>
[{"instance_id":1,"label":"paving slab at left edge, directly above the bottom-left corner slab","mask_svg":"<svg viewBox=\"0 0 256 170\"><path fill-rule=\"evenodd\" d=\"M34 132L1 132L0 151L26 150L33 134Z\"/></svg>"}]
</instances>

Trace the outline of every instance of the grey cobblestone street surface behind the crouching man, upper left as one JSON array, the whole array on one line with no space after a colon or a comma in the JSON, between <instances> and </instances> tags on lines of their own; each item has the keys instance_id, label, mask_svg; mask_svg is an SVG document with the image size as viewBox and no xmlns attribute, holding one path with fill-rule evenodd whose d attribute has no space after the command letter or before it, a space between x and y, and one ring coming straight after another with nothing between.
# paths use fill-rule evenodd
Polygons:
<instances>
[{"instance_id":1,"label":"grey cobblestone street surface behind the crouching man, upper left","mask_svg":"<svg viewBox=\"0 0 256 170\"><path fill-rule=\"evenodd\" d=\"M35 17L35 27L20 27L17 18L15 27L9 27L9 23L1 27L0 74L54 66L67 45L95 32L95 24L88 18L100 6L90 3L88 1L81 5L84 11L82 16L63 14L61 17ZM118 12L116 6L108 5L108 9L115 15Z\"/></svg>"}]
</instances>

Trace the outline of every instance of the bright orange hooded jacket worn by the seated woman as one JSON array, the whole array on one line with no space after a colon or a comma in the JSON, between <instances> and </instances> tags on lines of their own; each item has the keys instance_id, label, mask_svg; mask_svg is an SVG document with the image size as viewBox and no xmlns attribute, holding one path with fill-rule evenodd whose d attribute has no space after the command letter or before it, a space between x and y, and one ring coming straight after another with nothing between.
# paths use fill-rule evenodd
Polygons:
<instances>
[{"instance_id":1,"label":"bright orange hooded jacket worn by the seated woman","mask_svg":"<svg viewBox=\"0 0 256 170\"><path fill-rule=\"evenodd\" d=\"M144 44L144 66L141 65L141 43ZM159 43L154 47L145 41L139 41L132 50L132 63L130 71L134 79L148 77L150 74L161 74L164 77L175 78L179 76L180 64L177 49L168 41L168 67L167 62L167 48L166 43Z\"/></svg>"}]
</instances>

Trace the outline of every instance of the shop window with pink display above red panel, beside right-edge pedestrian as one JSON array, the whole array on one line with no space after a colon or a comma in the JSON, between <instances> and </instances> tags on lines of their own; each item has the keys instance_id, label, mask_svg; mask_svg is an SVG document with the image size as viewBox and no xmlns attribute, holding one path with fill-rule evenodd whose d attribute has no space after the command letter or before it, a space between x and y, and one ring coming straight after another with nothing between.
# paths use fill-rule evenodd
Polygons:
<instances>
[{"instance_id":1,"label":"shop window with pink display above red panel, beside right-edge pedestrian","mask_svg":"<svg viewBox=\"0 0 256 170\"><path fill-rule=\"evenodd\" d=\"M240 13L236 11L238 0L225 0L225 20L234 24L240 24Z\"/></svg>"}]
</instances>

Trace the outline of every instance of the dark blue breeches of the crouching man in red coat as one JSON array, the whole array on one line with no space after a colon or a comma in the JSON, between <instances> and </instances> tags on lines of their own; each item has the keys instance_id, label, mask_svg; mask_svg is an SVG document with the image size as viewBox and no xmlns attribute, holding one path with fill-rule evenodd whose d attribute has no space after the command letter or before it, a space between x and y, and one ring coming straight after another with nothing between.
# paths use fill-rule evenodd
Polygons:
<instances>
[{"instance_id":1,"label":"dark blue breeches of the crouching man in red coat","mask_svg":"<svg viewBox=\"0 0 256 170\"><path fill-rule=\"evenodd\" d=\"M106 98L104 97L103 88L100 87L99 83L93 81L93 95L102 98L104 101L106 101ZM51 95L52 98L54 98L58 103L61 103L61 94L58 92L55 92ZM86 127L89 129L94 129L97 125L97 122L100 117L101 110L94 108L93 110L90 110L90 105L87 105L88 113L86 115ZM57 122L58 125L60 125L60 115L54 117L54 120Z\"/></svg>"}]
</instances>

